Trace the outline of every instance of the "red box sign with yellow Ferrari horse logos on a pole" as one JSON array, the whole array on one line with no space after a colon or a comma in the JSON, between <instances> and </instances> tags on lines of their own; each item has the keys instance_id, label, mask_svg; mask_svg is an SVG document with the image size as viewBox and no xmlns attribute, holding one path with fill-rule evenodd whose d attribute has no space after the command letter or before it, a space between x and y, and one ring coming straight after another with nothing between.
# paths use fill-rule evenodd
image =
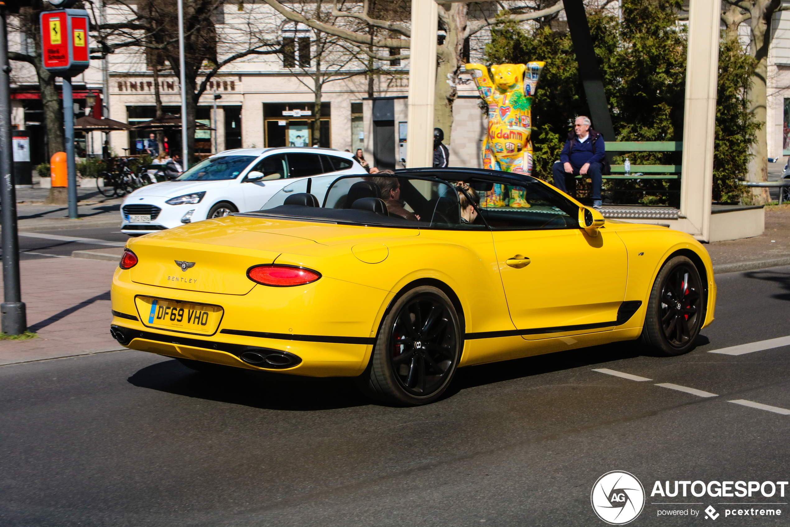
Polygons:
<instances>
[{"instance_id":1,"label":"red box sign with yellow Ferrari horse logos on a pole","mask_svg":"<svg viewBox=\"0 0 790 527\"><path fill-rule=\"evenodd\" d=\"M88 12L83 9L44 11L41 17L41 47L44 68L58 77L73 77L90 64Z\"/></svg>"}]
</instances>

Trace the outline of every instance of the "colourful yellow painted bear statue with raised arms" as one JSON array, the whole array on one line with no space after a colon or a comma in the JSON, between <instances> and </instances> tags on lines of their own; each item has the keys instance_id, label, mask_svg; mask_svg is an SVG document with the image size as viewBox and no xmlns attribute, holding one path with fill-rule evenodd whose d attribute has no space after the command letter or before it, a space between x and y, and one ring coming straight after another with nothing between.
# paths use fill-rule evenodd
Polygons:
<instances>
[{"instance_id":1,"label":"colourful yellow painted bear statue with raised arms","mask_svg":"<svg viewBox=\"0 0 790 527\"><path fill-rule=\"evenodd\" d=\"M495 64L491 66L493 80L483 64L466 65L488 104L483 168L528 175L532 172L532 96L545 64Z\"/></svg>"}]
</instances>

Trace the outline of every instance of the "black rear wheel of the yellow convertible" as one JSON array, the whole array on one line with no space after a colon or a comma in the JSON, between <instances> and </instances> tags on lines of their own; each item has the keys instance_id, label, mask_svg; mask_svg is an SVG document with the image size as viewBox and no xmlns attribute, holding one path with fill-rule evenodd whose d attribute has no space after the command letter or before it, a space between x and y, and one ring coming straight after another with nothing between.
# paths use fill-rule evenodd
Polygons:
<instances>
[{"instance_id":1,"label":"black rear wheel of the yellow convertible","mask_svg":"<svg viewBox=\"0 0 790 527\"><path fill-rule=\"evenodd\" d=\"M359 386L368 396L396 405L436 401L453 380L462 342L447 295L431 286L414 288L384 318Z\"/></svg>"}]
</instances>

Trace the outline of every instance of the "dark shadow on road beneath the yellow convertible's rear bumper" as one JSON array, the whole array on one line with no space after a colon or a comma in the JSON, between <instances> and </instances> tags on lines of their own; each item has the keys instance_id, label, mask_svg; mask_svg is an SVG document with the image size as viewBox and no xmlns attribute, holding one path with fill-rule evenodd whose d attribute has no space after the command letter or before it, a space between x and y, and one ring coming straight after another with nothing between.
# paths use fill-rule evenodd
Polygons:
<instances>
[{"instance_id":1,"label":"dark shadow on road beneath the yellow convertible's rear bumper","mask_svg":"<svg viewBox=\"0 0 790 527\"><path fill-rule=\"evenodd\" d=\"M351 378L297 377L233 367L227 373L204 374L177 360L144 367L128 380L150 390L270 410L301 412L371 404Z\"/></svg>"}]
</instances>

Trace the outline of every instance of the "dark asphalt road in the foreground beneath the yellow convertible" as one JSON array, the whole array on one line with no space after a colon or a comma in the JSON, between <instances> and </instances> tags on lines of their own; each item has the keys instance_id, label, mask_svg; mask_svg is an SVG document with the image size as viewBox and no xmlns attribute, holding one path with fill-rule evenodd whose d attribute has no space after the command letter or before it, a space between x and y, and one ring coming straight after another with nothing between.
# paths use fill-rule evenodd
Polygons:
<instances>
[{"instance_id":1,"label":"dark asphalt road in the foreground beneath the yellow convertible","mask_svg":"<svg viewBox=\"0 0 790 527\"><path fill-rule=\"evenodd\" d=\"M790 267L717 282L717 321L686 356L618 344L468 367L422 408L142 352L2 367L0 525L606 525L590 491L612 470L647 492L630 525L788 525L790 488L650 495L656 480L790 480L790 416L729 402L790 408L790 347L709 353L790 335Z\"/></svg>"}]
</instances>

